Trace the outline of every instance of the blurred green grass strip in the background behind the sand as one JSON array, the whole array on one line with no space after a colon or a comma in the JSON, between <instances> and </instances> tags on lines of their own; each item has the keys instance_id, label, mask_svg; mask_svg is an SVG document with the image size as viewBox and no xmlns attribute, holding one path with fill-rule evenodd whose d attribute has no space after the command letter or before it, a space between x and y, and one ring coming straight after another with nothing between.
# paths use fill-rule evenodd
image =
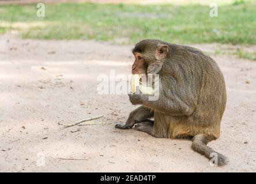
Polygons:
<instances>
[{"instance_id":1,"label":"blurred green grass strip in the background behind the sand","mask_svg":"<svg viewBox=\"0 0 256 184\"><path fill-rule=\"evenodd\" d=\"M125 40L145 38L171 43L256 44L256 3L234 1L210 17L206 5L60 3L0 5L0 34L15 31L25 39Z\"/></svg>"}]
</instances>

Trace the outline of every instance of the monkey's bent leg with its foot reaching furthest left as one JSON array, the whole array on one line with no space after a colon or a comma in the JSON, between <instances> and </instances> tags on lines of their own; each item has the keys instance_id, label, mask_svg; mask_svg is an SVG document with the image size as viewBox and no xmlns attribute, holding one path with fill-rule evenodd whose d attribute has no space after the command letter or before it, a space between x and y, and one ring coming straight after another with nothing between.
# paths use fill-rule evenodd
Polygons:
<instances>
[{"instance_id":1,"label":"monkey's bent leg with its foot reaching furthest left","mask_svg":"<svg viewBox=\"0 0 256 184\"><path fill-rule=\"evenodd\" d=\"M124 125L117 124L115 125L115 128L130 129L133 127L133 125L136 122L140 122L142 120L145 120L145 118L150 118L153 116L154 116L154 112L152 109L145 108L144 106L140 106L139 108L133 110L133 112L129 114L126 124Z\"/></svg>"}]
</instances>

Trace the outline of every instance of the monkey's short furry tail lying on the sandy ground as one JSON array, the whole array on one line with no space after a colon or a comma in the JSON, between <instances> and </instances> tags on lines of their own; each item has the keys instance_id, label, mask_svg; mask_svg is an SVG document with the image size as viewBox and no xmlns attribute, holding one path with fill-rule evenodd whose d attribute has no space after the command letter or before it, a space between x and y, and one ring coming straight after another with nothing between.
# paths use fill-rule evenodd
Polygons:
<instances>
[{"instance_id":1,"label":"monkey's short furry tail lying on the sandy ground","mask_svg":"<svg viewBox=\"0 0 256 184\"><path fill-rule=\"evenodd\" d=\"M200 154L205 155L208 159L212 160L212 163L216 166L223 166L227 164L228 159L214 151L208 145L209 142L208 136L205 134L198 134L193 137L192 148L193 150L199 152Z\"/></svg>"}]
</instances>

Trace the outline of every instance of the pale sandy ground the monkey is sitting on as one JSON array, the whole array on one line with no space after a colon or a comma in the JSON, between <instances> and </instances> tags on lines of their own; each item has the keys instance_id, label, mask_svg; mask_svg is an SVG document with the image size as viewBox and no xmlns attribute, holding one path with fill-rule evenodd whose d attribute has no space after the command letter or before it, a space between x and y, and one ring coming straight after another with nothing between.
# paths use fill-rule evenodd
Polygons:
<instances>
[{"instance_id":1,"label":"pale sandy ground the monkey is sitting on","mask_svg":"<svg viewBox=\"0 0 256 184\"><path fill-rule=\"evenodd\" d=\"M221 137L209 145L229 163L212 167L190 140L114 128L135 106L127 95L99 95L96 79L112 69L129 74L130 51L95 41L0 37L0 171L256 171L256 62L213 56L224 72L228 103ZM99 114L101 124L58 125Z\"/></svg>"}]
</instances>

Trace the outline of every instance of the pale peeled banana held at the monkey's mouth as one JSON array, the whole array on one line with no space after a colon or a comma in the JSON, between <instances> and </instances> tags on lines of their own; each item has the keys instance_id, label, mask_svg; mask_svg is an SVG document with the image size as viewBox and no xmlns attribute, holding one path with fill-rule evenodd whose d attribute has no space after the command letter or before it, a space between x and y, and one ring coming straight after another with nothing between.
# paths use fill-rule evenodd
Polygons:
<instances>
[{"instance_id":1,"label":"pale peeled banana held at the monkey's mouth","mask_svg":"<svg viewBox=\"0 0 256 184\"><path fill-rule=\"evenodd\" d=\"M137 86L139 87L140 91L144 94L154 94L153 87L145 86L142 83L142 78L144 74L133 74L131 75L131 92L135 93Z\"/></svg>"}]
</instances>

